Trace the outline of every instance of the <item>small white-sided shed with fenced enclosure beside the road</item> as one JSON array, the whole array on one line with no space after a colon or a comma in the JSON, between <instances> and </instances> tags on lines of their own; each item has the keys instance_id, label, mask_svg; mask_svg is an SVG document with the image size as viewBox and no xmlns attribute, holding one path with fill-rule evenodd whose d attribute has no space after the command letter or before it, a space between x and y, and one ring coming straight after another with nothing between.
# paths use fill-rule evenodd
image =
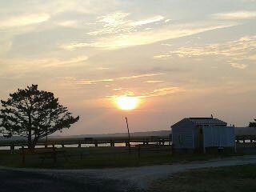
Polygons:
<instances>
[{"instance_id":1,"label":"small white-sided shed with fenced enclosure beside the road","mask_svg":"<svg viewBox=\"0 0 256 192\"><path fill-rule=\"evenodd\" d=\"M234 126L218 118L183 118L171 126L174 149L205 150L206 147L234 147Z\"/></svg>"}]
</instances>

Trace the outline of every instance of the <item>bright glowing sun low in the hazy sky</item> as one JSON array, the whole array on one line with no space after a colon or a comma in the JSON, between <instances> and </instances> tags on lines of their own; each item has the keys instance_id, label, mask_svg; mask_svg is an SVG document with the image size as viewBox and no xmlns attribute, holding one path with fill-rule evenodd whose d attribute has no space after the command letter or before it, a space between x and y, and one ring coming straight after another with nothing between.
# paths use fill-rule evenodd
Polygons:
<instances>
[{"instance_id":1,"label":"bright glowing sun low in the hazy sky","mask_svg":"<svg viewBox=\"0 0 256 192\"><path fill-rule=\"evenodd\" d=\"M134 110L138 106L138 98L130 96L120 96L115 98L115 102L121 110Z\"/></svg>"}]
</instances>

